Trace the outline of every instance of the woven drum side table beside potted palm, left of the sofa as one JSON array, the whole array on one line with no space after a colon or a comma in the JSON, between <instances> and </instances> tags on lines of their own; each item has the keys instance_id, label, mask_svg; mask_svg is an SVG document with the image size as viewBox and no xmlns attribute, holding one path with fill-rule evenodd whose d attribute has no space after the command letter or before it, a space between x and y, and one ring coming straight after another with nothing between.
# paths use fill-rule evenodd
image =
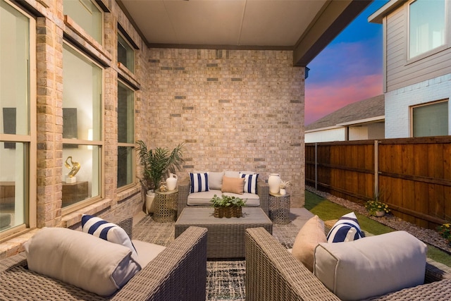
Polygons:
<instances>
[{"instance_id":1,"label":"woven drum side table beside potted palm, left of the sofa","mask_svg":"<svg viewBox=\"0 0 451 301\"><path fill-rule=\"evenodd\" d=\"M178 189L166 192L155 190L155 210L154 221L165 223L167 221L175 221L177 216L177 199Z\"/></svg>"}]
</instances>

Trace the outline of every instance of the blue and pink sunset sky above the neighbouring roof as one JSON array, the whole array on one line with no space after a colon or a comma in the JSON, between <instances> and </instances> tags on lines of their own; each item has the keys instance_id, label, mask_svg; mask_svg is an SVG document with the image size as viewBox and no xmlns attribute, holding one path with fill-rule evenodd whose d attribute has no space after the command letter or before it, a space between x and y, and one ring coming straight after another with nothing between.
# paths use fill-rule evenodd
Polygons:
<instances>
[{"instance_id":1,"label":"blue and pink sunset sky above the neighbouring roof","mask_svg":"<svg viewBox=\"0 0 451 301\"><path fill-rule=\"evenodd\" d=\"M367 19L386 2L373 1L307 66L305 125L382 94L382 25Z\"/></svg>"}]
</instances>

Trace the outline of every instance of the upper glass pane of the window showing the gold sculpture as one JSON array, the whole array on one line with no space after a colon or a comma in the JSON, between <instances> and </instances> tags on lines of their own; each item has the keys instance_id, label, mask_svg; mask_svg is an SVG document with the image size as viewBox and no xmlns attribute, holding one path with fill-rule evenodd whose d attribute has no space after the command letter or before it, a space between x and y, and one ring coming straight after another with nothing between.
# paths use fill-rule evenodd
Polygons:
<instances>
[{"instance_id":1,"label":"upper glass pane of the window showing the gold sculpture","mask_svg":"<svg viewBox=\"0 0 451 301\"><path fill-rule=\"evenodd\" d=\"M63 47L63 138L101 140L102 70Z\"/></svg>"}]
</instances>

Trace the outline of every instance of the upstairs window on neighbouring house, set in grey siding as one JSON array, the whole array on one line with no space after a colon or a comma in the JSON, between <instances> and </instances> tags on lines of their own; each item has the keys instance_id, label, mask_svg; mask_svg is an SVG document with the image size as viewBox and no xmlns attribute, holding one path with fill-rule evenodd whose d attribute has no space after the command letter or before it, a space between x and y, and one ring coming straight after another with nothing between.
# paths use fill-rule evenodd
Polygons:
<instances>
[{"instance_id":1,"label":"upstairs window on neighbouring house, set in grey siding","mask_svg":"<svg viewBox=\"0 0 451 301\"><path fill-rule=\"evenodd\" d=\"M445 0L416 0L409 5L409 58L445 44Z\"/></svg>"}]
</instances>

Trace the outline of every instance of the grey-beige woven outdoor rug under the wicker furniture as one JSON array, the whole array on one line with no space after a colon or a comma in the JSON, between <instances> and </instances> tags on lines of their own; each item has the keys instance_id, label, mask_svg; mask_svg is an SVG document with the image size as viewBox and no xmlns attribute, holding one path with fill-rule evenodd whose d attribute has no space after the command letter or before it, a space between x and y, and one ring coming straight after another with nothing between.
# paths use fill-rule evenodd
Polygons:
<instances>
[{"instance_id":1,"label":"grey-beige woven outdoor rug under the wicker furniture","mask_svg":"<svg viewBox=\"0 0 451 301\"><path fill-rule=\"evenodd\" d=\"M133 239L168 245L174 240L175 223L157 223L145 216L133 227ZM273 223L273 236L291 248L299 228L293 223ZM206 300L245 300L245 260L209 260L206 263Z\"/></svg>"}]
</instances>

